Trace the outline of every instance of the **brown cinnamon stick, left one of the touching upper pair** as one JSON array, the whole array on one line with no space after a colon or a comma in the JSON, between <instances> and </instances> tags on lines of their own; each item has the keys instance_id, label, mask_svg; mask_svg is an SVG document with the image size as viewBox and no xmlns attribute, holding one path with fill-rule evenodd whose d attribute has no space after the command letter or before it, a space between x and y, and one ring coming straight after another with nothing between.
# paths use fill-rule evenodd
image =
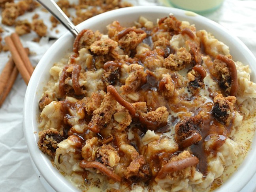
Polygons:
<instances>
[{"instance_id":1,"label":"brown cinnamon stick, left one of the touching upper pair","mask_svg":"<svg viewBox=\"0 0 256 192\"><path fill-rule=\"evenodd\" d=\"M21 56L19 55L19 52L17 51L13 41L11 40L11 37L7 36L6 38L4 38L4 40L6 42L6 45L8 45L9 47L9 51L11 52L13 61L15 62L17 69L21 73L21 76L24 79L25 83L28 85L28 81L30 79L30 73L26 69L26 66Z\"/></svg>"}]
</instances>

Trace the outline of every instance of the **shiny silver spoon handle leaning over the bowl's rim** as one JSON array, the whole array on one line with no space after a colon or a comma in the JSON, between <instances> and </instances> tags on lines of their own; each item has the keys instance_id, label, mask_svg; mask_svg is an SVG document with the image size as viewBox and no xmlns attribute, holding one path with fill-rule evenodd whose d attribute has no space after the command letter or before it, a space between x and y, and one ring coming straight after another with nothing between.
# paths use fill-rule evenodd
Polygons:
<instances>
[{"instance_id":1,"label":"shiny silver spoon handle leaning over the bowl's rim","mask_svg":"<svg viewBox=\"0 0 256 192\"><path fill-rule=\"evenodd\" d=\"M53 0L37 0L45 9L47 9L60 23L62 23L72 34L77 36L79 30L70 21L68 16L60 9Z\"/></svg>"}]
</instances>

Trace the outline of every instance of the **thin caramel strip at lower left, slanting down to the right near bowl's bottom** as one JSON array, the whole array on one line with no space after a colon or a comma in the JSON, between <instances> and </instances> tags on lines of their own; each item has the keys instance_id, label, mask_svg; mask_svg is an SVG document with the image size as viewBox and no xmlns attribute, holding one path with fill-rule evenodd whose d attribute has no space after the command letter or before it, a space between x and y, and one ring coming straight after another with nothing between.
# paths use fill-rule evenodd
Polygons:
<instances>
[{"instance_id":1,"label":"thin caramel strip at lower left, slanting down to the right near bowl's bottom","mask_svg":"<svg viewBox=\"0 0 256 192\"><path fill-rule=\"evenodd\" d=\"M108 169L106 166L104 166L100 162L82 160L80 162L80 166L82 168L95 168L95 169L98 169L102 173L107 175L107 177L109 177L110 179L113 179L116 182L121 182L121 178L117 174L115 174L113 171Z\"/></svg>"}]
</instances>

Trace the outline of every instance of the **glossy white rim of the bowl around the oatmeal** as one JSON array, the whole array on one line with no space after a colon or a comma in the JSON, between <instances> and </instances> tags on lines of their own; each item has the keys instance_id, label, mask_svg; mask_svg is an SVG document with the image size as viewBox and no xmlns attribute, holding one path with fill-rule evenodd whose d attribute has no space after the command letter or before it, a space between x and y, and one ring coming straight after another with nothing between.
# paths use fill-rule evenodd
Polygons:
<instances>
[{"instance_id":1,"label":"glossy white rim of the bowl around the oatmeal","mask_svg":"<svg viewBox=\"0 0 256 192\"><path fill-rule=\"evenodd\" d=\"M128 14L130 12L142 15L143 13L148 13L148 12L161 13L161 11L173 13L175 16L177 15L177 17L179 17L180 15L183 15L185 17L194 17L194 19L199 19L200 22L204 23L205 28L209 27L212 30L218 30L217 32L218 34L222 34L225 38L228 38L227 41L229 42L234 41L235 43L237 43L237 45L240 46L240 49L243 55L245 55L245 57L248 58L247 59L248 64L256 63L256 58L254 57L252 52L246 47L246 45L237 37L230 34L230 32L226 28L201 15L198 15L196 13L191 14L191 11L189 11L190 14L188 14L189 13L188 11L177 9L177 8L169 8L169 7L162 7L162 6L135 6L135 7L115 9L112 11L102 13L100 15L96 15L90 19L87 19L86 21L83 21L81 24L77 25L77 28L81 30L85 28L86 24L88 23L92 23L93 21L100 20L102 18L103 19L110 18L110 17L113 17L113 15L116 15L116 16L123 15L123 14ZM24 136L28 146L28 151L30 153L30 157L34 162L34 164L36 165L36 168L40 171L41 175L45 178L45 180L54 188L54 190L58 192L62 191L63 189L67 189L73 192L80 192L80 190L75 188L75 186L73 186L70 182L66 182L66 179L64 178L64 176L61 176L61 174L58 173L58 170L55 170L52 164L49 164L49 162L46 162L44 160L45 155L38 149L37 141L35 140L34 131L37 130L38 125L36 125L35 127L35 124L32 122L31 117L33 117L34 112L31 109L33 109L34 107L33 101L35 101L36 99L36 96L35 96L36 91L38 89L38 86L40 86L38 77L40 76L41 71L44 69L45 58L51 57L52 51L59 48L58 44L60 44L60 42L70 38L73 38L72 34L70 34L70 32L66 32L55 43L53 43L53 45L51 45L51 47L43 55L40 62L36 66L36 69L34 70L34 73L32 74L32 77L28 83L28 87L26 90L25 98L24 98L24 107L23 107L23 132L24 132ZM250 68L253 72L253 75L255 76L256 66L253 66L251 64ZM256 136L254 135L254 139L252 142L254 143L254 148L256 147L255 137ZM251 144L251 147L252 147L252 144ZM239 190L241 190L248 183L248 181L250 181L250 178L256 172L256 166L253 166L254 165L253 158L250 158L255 156L256 156L256 149L250 150L245 160L243 160L243 162L240 164L239 168L229 177L229 179L226 182L222 184L220 188L216 189L215 192L221 192L221 191L238 192ZM234 177L234 175L240 175L240 177Z\"/></svg>"}]
</instances>

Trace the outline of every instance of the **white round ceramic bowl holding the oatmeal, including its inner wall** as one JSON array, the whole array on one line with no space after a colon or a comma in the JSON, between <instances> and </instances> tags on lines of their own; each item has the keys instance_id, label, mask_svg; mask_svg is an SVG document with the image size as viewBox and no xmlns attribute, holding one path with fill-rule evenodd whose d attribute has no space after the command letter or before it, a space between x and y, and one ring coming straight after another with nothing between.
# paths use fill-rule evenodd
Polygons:
<instances>
[{"instance_id":1,"label":"white round ceramic bowl holding the oatmeal, including its inner wall","mask_svg":"<svg viewBox=\"0 0 256 192\"><path fill-rule=\"evenodd\" d=\"M131 26L134 21L137 21L139 16L144 16L147 19L156 22L157 18L168 16L173 13L177 19L181 21L189 21L190 24L195 24L198 30L205 29L214 34L214 36L223 41L230 47L230 53L233 55L234 60L239 60L244 64L249 64L252 70L252 81L256 81L256 58L252 55L250 50L236 37L231 36L230 32L220 26L219 24L206 19L200 15L188 14L188 12L167 7L156 6L139 6L123 9L116 9L102 13L93 18L90 18L83 23L79 24L77 28L82 30L90 28L92 30L100 30L106 32L106 25L118 20L121 25ZM38 101L43 93L43 87L49 81L49 70L54 62L59 61L72 51L73 36L67 32L60 37L45 53L43 58L38 63L26 90L23 111L23 129L28 151L30 152L32 161L36 165L44 179L57 191L78 192L70 182L68 182L59 171L53 167L49 158L43 154L37 147L38 141L38 116L39 108ZM233 175L226 181L216 192L238 192L256 172L255 166L256 158L256 139L254 137L251 150L247 158L241 166L233 173Z\"/></svg>"}]
</instances>

